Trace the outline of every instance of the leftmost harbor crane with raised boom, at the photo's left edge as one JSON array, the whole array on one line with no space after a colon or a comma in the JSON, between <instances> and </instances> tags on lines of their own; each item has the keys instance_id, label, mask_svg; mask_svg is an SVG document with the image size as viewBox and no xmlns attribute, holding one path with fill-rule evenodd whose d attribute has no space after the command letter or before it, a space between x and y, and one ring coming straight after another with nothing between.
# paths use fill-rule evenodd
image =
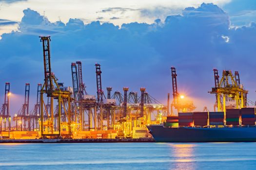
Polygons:
<instances>
[{"instance_id":1,"label":"leftmost harbor crane with raised boom, at the photo's left edge","mask_svg":"<svg viewBox=\"0 0 256 170\"><path fill-rule=\"evenodd\" d=\"M4 124L4 131L6 131L6 122L8 121L8 130L10 130L10 111L9 111L9 97L10 97L10 83L5 83L4 90L4 103L1 106L0 111L0 132L2 131L2 122Z\"/></svg>"}]
</instances>

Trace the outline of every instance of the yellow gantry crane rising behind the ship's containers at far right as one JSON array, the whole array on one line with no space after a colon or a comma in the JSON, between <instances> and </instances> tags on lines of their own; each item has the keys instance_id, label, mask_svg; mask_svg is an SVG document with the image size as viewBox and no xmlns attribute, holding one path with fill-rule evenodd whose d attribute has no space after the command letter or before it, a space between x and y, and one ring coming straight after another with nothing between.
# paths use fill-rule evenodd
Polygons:
<instances>
[{"instance_id":1,"label":"yellow gantry crane rising behind the ship's containers at far right","mask_svg":"<svg viewBox=\"0 0 256 170\"><path fill-rule=\"evenodd\" d=\"M216 71L217 69L214 69L215 87L213 87L209 93L217 95L217 110L226 112L227 107L245 107L244 96L247 95L248 91L240 84L238 71L236 71L236 75L234 76L231 70L223 70L222 78L219 82L216 81ZM226 104L226 102L228 102L228 104Z\"/></svg>"}]
</instances>

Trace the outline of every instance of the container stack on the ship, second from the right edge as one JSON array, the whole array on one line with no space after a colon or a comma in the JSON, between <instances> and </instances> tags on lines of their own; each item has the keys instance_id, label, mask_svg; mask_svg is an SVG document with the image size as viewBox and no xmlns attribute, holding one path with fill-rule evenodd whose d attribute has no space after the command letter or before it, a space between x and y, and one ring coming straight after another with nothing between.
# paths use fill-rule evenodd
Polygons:
<instances>
[{"instance_id":1,"label":"container stack on the ship, second from the right edge","mask_svg":"<svg viewBox=\"0 0 256 170\"><path fill-rule=\"evenodd\" d=\"M226 125L239 125L240 109L226 109Z\"/></svg>"}]
</instances>

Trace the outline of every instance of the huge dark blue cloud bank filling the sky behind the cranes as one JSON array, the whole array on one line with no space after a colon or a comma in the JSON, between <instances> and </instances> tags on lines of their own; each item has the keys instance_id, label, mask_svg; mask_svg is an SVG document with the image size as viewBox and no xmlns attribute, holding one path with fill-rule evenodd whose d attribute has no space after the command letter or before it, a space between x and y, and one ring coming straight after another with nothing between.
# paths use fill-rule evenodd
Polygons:
<instances>
[{"instance_id":1,"label":"huge dark blue cloud bank filling the sky behind the cranes","mask_svg":"<svg viewBox=\"0 0 256 170\"><path fill-rule=\"evenodd\" d=\"M82 60L83 79L89 94L96 94L95 66L102 68L102 85L113 91L123 86L146 90L162 103L171 91L170 67L178 74L178 90L194 97L197 110L212 110L214 85L212 68L238 70L248 98L256 98L251 81L256 72L256 23L230 27L228 14L214 4L185 8L155 23L127 23L120 27L81 19L50 22L31 9L24 10L19 30L3 34L0 40L1 82L10 82L14 93L23 94L31 83L31 95L43 81L42 47L39 35L51 35L52 70L60 82L71 86L71 61ZM0 89L4 88L0 85ZM13 112L12 112L13 113Z\"/></svg>"}]
</instances>

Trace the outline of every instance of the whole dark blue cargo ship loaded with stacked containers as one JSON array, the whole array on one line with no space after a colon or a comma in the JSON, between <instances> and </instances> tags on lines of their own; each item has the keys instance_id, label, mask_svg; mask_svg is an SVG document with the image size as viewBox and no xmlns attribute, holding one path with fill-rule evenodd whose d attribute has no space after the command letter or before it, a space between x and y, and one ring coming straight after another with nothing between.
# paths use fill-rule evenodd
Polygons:
<instances>
[{"instance_id":1,"label":"whole dark blue cargo ship loaded with stacked containers","mask_svg":"<svg viewBox=\"0 0 256 170\"><path fill-rule=\"evenodd\" d=\"M256 142L255 108L179 113L147 128L156 142Z\"/></svg>"}]
</instances>

